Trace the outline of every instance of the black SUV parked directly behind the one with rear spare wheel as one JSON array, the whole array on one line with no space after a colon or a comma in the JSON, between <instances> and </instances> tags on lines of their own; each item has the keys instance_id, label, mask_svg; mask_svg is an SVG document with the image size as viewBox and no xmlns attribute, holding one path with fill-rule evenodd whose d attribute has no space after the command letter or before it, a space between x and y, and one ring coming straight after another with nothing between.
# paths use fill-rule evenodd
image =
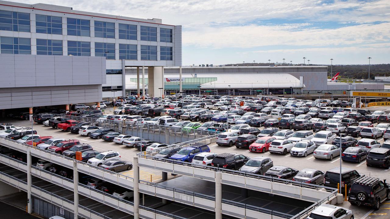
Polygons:
<instances>
[{"instance_id":1,"label":"black SUV parked directly behind the one with rear spare wheel","mask_svg":"<svg viewBox=\"0 0 390 219\"><path fill-rule=\"evenodd\" d=\"M356 170L350 168L341 168L341 191L344 193L344 185L347 185L349 189L353 181L360 177L360 174ZM340 167L335 167L332 170L328 170L325 173L324 186L337 188L337 184L340 183Z\"/></svg>"}]
</instances>

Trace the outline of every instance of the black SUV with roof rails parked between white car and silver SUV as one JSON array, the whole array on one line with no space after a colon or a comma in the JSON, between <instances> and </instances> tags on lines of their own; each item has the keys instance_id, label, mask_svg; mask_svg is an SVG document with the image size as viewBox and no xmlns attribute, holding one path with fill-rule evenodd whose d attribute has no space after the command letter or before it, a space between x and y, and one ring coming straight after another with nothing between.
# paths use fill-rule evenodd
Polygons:
<instances>
[{"instance_id":1,"label":"black SUV with roof rails parked between white car and silver SUV","mask_svg":"<svg viewBox=\"0 0 390 219\"><path fill-rule=\"evenodd\" d=\"M239 170L241 166L244 166L248 159L249 157L246 157L242 154L218 154L215 155L213 161L211 161L211 166L229 170Z\"/></svg>"}]
</instances>

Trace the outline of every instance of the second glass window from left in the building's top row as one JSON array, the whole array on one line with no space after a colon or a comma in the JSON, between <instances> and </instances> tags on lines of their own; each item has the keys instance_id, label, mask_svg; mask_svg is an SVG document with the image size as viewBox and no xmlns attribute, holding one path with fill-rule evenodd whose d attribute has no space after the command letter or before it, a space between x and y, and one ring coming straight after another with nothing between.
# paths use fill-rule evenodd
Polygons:
<instances>
[{"instance_id":1,"label":"second glass window from left in the building's top row","mask_svg":"<svg viewBox=\"0 0 390 219\"><path fill-rule=\"evenodd\" d=\"M62 35L62 18L43 14L35 15L37 33Z\"/></svg>"}]
</instances>

